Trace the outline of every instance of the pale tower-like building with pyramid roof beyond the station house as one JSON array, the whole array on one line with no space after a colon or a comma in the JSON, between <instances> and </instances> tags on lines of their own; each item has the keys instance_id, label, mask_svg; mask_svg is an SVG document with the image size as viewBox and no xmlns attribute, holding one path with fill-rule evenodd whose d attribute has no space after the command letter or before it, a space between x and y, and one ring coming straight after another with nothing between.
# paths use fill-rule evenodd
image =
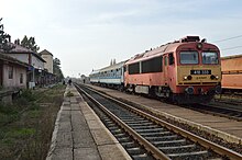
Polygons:
<instances>
[{"instance_id":1,"label":"pale tower-like building with pyramid roof beyond the station house","mask_svg":"<svg viewBox=\"0 0 242 160\"><path fill-rule=\"evenodd\" d=\"M47 69L48 72L53 73L53 55L52 55L52 53L44 49L40 53L40 55L46 61L44 64L44 68Z\"/></svg>"}]
</instances>

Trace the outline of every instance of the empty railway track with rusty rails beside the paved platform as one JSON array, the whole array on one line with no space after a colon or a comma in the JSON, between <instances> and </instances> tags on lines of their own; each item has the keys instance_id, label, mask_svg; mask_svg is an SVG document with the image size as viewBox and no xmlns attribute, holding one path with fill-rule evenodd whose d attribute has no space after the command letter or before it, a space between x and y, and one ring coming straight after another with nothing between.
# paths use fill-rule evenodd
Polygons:
<instances>
[{"instance_id":1,"label":"empty railway track with rusty rails beside the paved platform","mask_svg":"<svg viewBox=\"0 0 242 160\"><path fill-rule=\"evenodd\" d=\"M89 99L89 105L133 159L242 159L240 153L102 93L81 88L77 87L78 91Z\"/></svg>"}]
</instances>

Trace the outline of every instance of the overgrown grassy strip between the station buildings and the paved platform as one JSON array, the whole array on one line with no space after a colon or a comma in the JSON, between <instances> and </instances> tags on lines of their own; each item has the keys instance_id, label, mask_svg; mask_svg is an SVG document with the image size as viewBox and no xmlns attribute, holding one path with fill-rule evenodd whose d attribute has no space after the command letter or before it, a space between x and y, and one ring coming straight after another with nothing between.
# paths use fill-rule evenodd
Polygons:
<instances>
[{"instance_id":1,"label":"overgrown grassy strip between the station buildings and the paved platform","mask_svg":"<svg viewBox=\"0 0 242 160\"><path fill-rule=\"evenodd\" d=\"M12 105L0 104L0 159L45 159L64 91L26 90Z\"/></svg>"}]
</instances>

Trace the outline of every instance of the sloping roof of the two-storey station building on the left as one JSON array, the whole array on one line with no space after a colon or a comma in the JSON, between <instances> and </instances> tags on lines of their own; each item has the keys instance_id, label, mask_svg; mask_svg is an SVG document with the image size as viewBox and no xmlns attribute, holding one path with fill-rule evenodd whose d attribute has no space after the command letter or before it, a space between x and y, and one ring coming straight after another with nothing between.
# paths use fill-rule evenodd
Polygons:
<instances>
[{"instance_id":1,"label":"sloping roof of the two-storey station building on the left","mask_svg":"<svg viewBox=\"0 0 242 160\"><path fill-rule=\"evenodd\" d=\"M43 62L46 62L38 54L34 53L31 49L28 49L25 47L22 47L20 45L13 44L13 43L10 43L10 45L13 46L14 48L11 49L9 53L6 53L6 54L32 54L35 57L37 57L40 60L42 60Z\"/></svg>"}]
</instances>

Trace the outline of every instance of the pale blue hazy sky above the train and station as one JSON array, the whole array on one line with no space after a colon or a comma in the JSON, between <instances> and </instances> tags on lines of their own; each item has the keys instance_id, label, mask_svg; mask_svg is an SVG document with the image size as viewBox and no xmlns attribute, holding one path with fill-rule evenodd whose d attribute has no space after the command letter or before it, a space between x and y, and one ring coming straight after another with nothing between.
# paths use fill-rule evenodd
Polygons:
<instances>
[{"instance_id":1,"label":"pale blue hazy sky above the train and station","mask_svg":"<svg viewBox=\"0 0 242 160\"><path fill-rule=\"evenodd\" d=\"M186 35L242 54L241 0L0 0L0 18L12 42L34 36L70 77Z\"/></svg>"}]
</instances>

